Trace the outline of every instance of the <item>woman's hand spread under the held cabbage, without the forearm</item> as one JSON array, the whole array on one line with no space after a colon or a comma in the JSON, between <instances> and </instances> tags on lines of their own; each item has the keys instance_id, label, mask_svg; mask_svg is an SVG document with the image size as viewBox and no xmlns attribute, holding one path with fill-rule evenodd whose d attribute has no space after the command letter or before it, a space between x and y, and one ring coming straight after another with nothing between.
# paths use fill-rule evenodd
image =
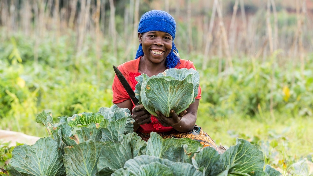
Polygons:
<instances>
[{"instance_id":1,"label":"woman's hand spread under the held cabbage, without the forearm","mask_svg":"<svg viewBox=\"0 0 313 176\"><path fill-rule=\"evenodd\" d=\"M164 127L172 127L180 122L182 119L182 116L184 116L187 113L186 110L182 111L178 115L174 110L170 111L171 116L166 117L164 116L160 111L156 111L156 119L164 126Z\"/></svg>"}]
</instances>

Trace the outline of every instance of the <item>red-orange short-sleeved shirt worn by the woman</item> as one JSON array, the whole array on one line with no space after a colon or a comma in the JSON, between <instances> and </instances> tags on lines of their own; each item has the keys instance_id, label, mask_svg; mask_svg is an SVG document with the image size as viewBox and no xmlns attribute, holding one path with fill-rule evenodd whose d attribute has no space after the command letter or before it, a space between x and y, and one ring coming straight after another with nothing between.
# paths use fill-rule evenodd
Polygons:
<instances>
[{"instance_id":1,"label":"red-orange short-sleeved shirt worn by the woman","mask_svg":"<svg viewBox=\"0 0 313 176\"><path fill-rule=\"evenodd\" d=\"M141 75L141 73L138 72L140 59L141 59L141 57L138 59L135 59L135 60L125 62L124 64L119 65L117 67L121 71L121 73L124 75L124 77L126 78L126 80L128 81L129 85L131 86L131 88L133 90L135 90L135 86L137 84L135 77ZM192 61L183 60L183 59L180 59L180 63L178 63L175 66L175 68L177 68L177 69L182 69L182 68L191 69L192 68L192 69L196 70ZM112 101L113 103L121 103L123 101L131 99L116 75L115 75L114 80L113 80L112 91L113 91L113 101ZM198 89L198 96L196 97L196 99L201 99L200 85L199 85L199 89ZM134 108L135 104L134 104L134 102L132 102L132 103L133 103L132 108ZM140 127L138 128L137 131L138 132L144 132L144 133L150 133L152 131L153 132L167 132L167 131L171 131L173 129L172 127L162 126L157 121L156 117L154 117L153 115L151 115L151 121L152 121L152 123L140 125Z\"/></svg>"}]
</instances>

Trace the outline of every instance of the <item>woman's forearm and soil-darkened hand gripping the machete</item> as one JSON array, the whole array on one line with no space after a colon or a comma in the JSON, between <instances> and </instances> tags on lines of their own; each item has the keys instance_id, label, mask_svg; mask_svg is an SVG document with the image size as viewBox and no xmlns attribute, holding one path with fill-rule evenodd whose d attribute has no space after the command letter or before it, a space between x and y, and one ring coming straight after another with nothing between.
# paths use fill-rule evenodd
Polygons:
<instances>
[{"instance_id":1,"label":"woman's forearm and soil-darkened hand gripping the machete","mask_svg":"<svg viewBox=\"0 0 313 176\"><path fill-rule=\"evenodd\" d=\"M150 121L151 114L148 111L146 111L143 105L138 105L138 106L135 106L134 109L131 109L133 104L130 99L123 101L121 103L114 103L114 104L117 105L119 108L128 108L132 112L131 118L135 120L135 122L133 123L134 132L138 130L140 125L146 124L147 122Z\"/></svg>"}]
</instances>

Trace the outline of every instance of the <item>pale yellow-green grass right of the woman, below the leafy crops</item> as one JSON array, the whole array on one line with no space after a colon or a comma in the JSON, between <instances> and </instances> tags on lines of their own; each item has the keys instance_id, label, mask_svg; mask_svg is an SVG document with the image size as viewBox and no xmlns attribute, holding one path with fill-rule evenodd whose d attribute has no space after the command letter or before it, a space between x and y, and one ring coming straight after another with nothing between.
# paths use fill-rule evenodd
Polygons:
<instances>
[{"instance_id":1,"label":"pale yellow-green grass right of the woman, below the leafy crops","mask_svg":"<svg viewBox=\"0 0 313 176\"><path fill-rule=\"evenodd\" d=\"M200 103L201 109L201 103ZM259 146L264 152L266 164L280 172L291 172L292 164L302 158L312 160L313 121L311 117L292 118L288 114L268 113L247 118L233 114L229 117L204 117L198 114L197 124L213 140L228 148L235 138L243 138ZM200 115L200 116L199 116Z\"/></svg>"}]
</instances>

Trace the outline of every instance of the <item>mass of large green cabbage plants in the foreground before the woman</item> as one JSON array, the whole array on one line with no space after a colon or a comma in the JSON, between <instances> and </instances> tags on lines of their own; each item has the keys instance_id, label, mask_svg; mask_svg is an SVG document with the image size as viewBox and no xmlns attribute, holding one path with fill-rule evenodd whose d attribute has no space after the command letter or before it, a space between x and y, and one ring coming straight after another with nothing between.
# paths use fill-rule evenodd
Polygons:
<instances>
[{"instance_id":1,"label":"mass of large green cabbage plants in the foreground before the woman","mask_svg":"<svg viewBox=\"0 0 313 176\"><path fill-rule=\"evenodd\" d=\"M43 111L36 120L49 137L15 147L0 176L280 175L269 165L263 169L263 153L243 139L223 154L196 140L163 139L156 132L145 142L132 131L130 111L116 105L62 116L58 123Z\"/></svg>"}]
</instances>

